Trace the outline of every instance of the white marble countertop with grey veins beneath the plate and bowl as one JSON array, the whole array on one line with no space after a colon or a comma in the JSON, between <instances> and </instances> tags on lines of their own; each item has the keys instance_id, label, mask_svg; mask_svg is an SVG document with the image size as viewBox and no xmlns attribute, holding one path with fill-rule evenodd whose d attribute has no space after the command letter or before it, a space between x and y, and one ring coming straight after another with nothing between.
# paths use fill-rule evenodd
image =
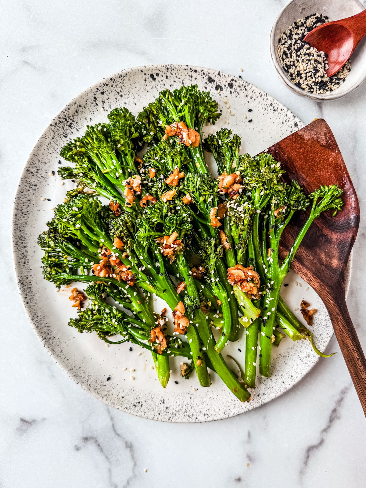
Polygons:
<instances>
[{"instance_id":1,"label":"white marble countertop with grey veins beneath the plate and bowl","mask_svg":"<svg viewBox=\"0 0 366 488\"><path fill-rule=\"evenodd\" d=\"M334 102L299 98L282 85L268 37L284 3L3 2L0 232L9 252L0 284L1 488L365 486L366 421L340 353L280 398L235 418L183 425L133 417L81 390L51 359L13 271L10 219L20 171L64 104L130 66L209 66L241 74L305 123L324 117L333 130L360 198L347 304L366 348L366 83ZM330 349L339 349L335 338Z\"/></svg>"}]
</instances>

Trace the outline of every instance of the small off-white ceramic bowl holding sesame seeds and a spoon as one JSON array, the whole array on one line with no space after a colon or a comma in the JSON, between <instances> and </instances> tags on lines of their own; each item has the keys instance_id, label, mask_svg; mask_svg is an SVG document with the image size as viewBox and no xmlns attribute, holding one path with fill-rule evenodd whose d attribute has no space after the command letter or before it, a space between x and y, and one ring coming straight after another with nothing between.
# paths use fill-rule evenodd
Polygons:
<instances>
[{"instance_id":1,"label":"small off-white ceramic bowl holding sesame seeds and a spoon","mask_svg":"<svg viewBox=\"0 0 366 488\"><path fill-rule=\"evenodd\" d=\"M366 37L359 43L350 57L351 71L345 82L330 93L314 94L305 92L293 84L282 68L277 48L281 34L295 20L315 13L324 14L331 20L339 20L358 14L362 10L364 10L364 6L358 0L290 0L277 16L269 39L272 62L280 80L296 94L313 100L335 100L344 97L347 93L360 86L366 78Z\"/></svg>"}]
</instances>

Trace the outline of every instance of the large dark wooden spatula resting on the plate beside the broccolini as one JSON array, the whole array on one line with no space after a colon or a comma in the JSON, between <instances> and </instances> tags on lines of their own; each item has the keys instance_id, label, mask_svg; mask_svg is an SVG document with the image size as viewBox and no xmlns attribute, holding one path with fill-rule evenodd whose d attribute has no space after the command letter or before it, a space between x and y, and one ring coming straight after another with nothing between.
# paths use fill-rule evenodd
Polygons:
<instances>
[{"instance_id":1,"label":"large dark wooden spatula resting on the plate beside the broccolini","mask_svg":"<svg viewBox=\"0 0 366 488\"><path fill-rule=\"evenodd\" d=\"M349 317L345 299L345 271L360 221L360 207L346 164L332 131L317 119L269 147L286 175L311 193L320 184L338 184L343 189L344 207L335 217L321 214L296 252L292 268L323 300L346 365L366 415L366 360ZM280 256L287 255L306 220L295 214L281 239Z\"/></svg>"}]
</instances>

